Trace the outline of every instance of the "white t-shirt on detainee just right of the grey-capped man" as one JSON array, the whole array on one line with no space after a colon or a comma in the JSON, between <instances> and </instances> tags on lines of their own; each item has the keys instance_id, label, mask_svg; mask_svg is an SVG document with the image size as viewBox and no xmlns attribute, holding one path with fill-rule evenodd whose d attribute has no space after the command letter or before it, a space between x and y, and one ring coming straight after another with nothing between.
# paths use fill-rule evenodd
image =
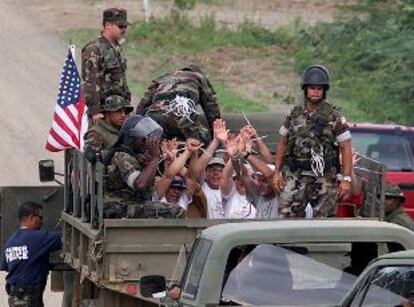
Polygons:
<instances>
[{"instance_id":1,"label":"white t-shirt on detainee just right of the grey-capped man","mask_svg":"<svg viewBox=\"0 0 414 307\"><path fill-rule=\"evenodd\" d=\"M241 195L234 182L232 183L231 191L228 195L222 194L223 199L226 200L226 218L228 219L254 219L256 217L256 208L246 198L246 195Z\"/></svg>"}]
</instances>

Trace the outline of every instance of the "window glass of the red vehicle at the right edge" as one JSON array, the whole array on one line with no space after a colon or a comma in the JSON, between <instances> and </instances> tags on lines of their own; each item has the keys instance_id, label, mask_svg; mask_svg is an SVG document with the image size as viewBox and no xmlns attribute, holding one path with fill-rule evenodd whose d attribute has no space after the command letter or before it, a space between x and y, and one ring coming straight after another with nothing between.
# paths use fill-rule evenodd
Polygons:
<instances>
[{"instance_id":1,"label":"window glass of the red vehicle at the right edge","mask_svg":"<svg viewBox=\"0 0 414 307\"><path fill-rule=\"evenodd\" d=\"M356 151L387 166L388 171L413 171L414 154L404 134L351 130Z\"/></svg>"}]
</instances>

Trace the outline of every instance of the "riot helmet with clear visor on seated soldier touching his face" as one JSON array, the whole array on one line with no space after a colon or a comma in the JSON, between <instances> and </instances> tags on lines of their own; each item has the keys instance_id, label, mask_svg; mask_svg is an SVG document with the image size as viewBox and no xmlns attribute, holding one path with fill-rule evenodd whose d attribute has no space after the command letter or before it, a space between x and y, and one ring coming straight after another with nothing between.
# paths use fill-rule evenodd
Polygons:
<instances>
[{"instance_id":1,"label":"riot helmet with clear visor on seated soldier touching his face","mask_svg":"<svg viewBox=\"0 0 414 307\"><path fill-rule=\"evenodd\" d=\"M125 120L121 127L121 134L129 138L148 136L161 138L163 129L151 117L134 115Z\"/></svg>"}]
</instances>

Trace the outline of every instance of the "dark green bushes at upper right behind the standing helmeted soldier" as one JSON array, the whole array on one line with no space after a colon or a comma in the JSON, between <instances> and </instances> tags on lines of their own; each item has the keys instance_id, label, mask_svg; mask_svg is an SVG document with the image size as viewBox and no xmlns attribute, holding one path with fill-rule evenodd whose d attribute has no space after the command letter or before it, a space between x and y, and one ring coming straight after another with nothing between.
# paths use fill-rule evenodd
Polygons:
<instances>
[{"instance_id":1,"label":"dark green bushes at upper right behind the standing helmeted soldier","mask_svg":"<svg viewBox=\"0 0 414 307\"><path fill-rule=\"evenodd\" d=\"M298 70L328 65L333 101L354 121L413 125L413 3L361 0L349 8L359 18L300 31Z\"/></svg>"}]
</instances>

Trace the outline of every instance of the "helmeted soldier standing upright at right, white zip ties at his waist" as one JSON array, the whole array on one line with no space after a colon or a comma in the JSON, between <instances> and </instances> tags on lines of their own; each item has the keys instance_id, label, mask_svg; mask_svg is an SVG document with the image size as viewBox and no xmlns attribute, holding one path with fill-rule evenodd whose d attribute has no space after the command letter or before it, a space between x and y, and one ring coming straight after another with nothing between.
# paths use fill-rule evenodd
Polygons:
<instances>
[{"instance_id":1,"label":"helmeted soldier standing upright at right, white zip ties at his waist","mask_svg":"<svg viewBox=\"0 0 414 307\"><path fill-rule=\"evenodd\" d=\"M293 108L279 130L273 178L281 193L279 216L305 217L306 212L309 217L334 216L338 194L351 189L351 134L345 118L325 100L329 89L325 67L309 66L301 87L304 104Z\"/></svg>"}]
</instances>

